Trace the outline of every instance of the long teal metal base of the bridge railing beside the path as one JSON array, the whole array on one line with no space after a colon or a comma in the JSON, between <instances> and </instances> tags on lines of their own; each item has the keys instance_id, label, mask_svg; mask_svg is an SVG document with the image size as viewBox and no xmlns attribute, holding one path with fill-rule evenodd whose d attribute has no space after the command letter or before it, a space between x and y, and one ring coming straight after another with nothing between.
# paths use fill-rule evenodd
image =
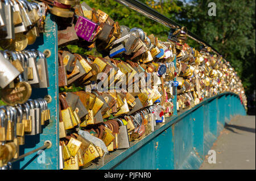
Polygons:
<instances>
[{"instance_id":1,"label":"long teal metal base of the bridge railing beside the path","mask_svg":"<svg viewBox=\"0 0 256 181\"><path fill-rule=\"evenodd\" d=\"M225 92L184 109L141 141L116 150L88 169L199 169L233 116L246 115L238 95Z\"/></svg>"}]
</instances>

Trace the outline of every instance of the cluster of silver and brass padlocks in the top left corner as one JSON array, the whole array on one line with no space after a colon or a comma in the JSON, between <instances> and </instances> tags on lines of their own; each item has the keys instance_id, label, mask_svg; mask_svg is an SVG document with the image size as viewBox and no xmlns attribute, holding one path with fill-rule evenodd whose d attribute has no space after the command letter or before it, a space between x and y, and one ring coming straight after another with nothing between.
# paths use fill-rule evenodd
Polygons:
<instances>
[{"instance_id":1,"label":"cluster of silver and brass padlocks in the top left corner","mask_svg":"<svg viewBox=\"0 0 256 181\"><path fill-rule=\"evenodd\" d=\"M0 47L24 50L44 32L46 6L26 0L0 1Z\"/></svg>"}]
</instances>

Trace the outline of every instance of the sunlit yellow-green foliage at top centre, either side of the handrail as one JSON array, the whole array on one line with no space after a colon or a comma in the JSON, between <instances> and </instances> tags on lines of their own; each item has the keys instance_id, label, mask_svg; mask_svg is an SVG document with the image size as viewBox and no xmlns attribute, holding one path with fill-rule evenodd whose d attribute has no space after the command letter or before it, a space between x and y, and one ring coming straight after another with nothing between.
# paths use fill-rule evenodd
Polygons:
<instances>
[{"instance_id":1,"label":"sunlit yellow-green foliage at top centre, either side of the handrail","mask_svg":"<svg viewBox=\"0 0 256 181\"><path fill-rule=\"evenodd\" d=\"M82 0L86 2L90 7L94 7L96 10L100 9L108 14L114 21L117 21L121 25L125 25L129 28L138 27L148 34L153 33L159 39L166 40L168 35L168 28L156 23L154 20L147 18L139 14L134 10L129 9L126 6L114 0ZM176 1L164 0L162 2L142 0L141 2L166 14L168 18L174 18L175 14L169 12L179 12L181 7L176 5Z\"/></svg>"}]
</instances>

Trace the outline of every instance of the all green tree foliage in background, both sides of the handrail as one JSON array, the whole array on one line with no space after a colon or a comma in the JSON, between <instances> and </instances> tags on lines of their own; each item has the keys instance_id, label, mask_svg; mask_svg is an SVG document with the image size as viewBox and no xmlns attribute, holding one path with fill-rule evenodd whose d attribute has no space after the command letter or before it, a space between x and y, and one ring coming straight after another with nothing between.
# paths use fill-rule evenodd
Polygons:
<instances>
[{"instance_id":1,"label":"all green tree foliage in background, both sides of the handrail","mask_svg":"<svg viewBox=\"0 0 256 181\"><path fill-rule=\"evenodd\" d=\"M138 27L166 40L169 29L114 0L82 0L100 9L119 24ZM246 92L255 91L255 1L254 0L141 0L161 14L186 26L230 61ZM216 3L216 16L209 16L209 2ZM201 45L191 39L188 44Z\"/></svg>"}]
</instances>

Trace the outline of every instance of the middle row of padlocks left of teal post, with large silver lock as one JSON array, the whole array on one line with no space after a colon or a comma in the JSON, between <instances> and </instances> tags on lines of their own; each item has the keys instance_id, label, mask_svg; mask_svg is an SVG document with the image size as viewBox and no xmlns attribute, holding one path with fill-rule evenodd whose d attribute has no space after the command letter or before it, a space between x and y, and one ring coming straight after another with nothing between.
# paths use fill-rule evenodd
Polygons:
<instances>
[{"instance_id":1,"label":"middle row of padlocks left of teal post, with large silver lock","mask_svg":"<svg viewBox=\"0 0 256 181\"><path fill-rule=\"evenodd\" d=\"M49 87L47 60L39 50L2 50L0 62L0 94L6 104L25 103L30 98L31 87Z\"/></svg>"}]
</instances>

